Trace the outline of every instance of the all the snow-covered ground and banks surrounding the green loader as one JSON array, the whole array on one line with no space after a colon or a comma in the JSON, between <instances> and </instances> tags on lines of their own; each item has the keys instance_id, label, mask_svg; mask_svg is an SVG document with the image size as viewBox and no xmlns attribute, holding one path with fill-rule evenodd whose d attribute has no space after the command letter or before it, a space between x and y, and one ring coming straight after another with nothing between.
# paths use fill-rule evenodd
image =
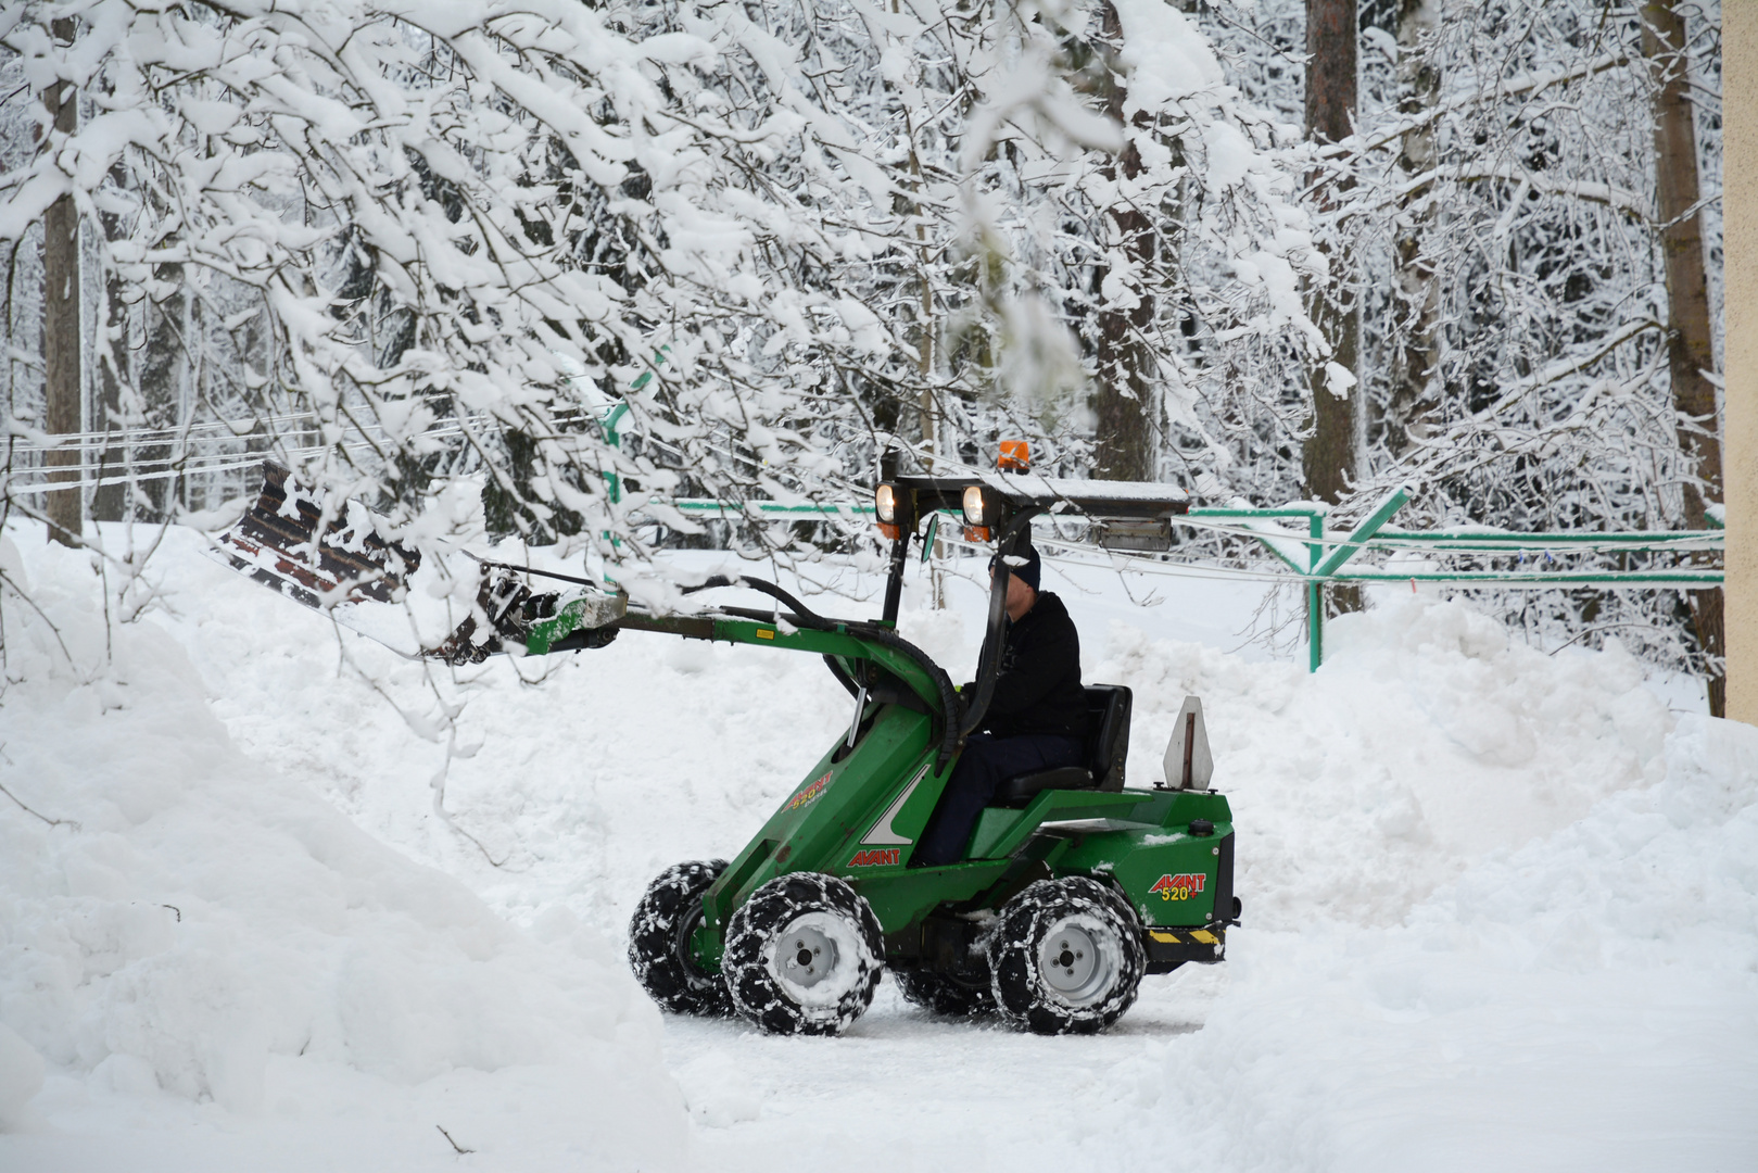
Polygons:
<instances>
[{"instance_id":1,"label":"all the snow-covered ground and banks surrounding the green loader","mask_svg":"<svg viewBox=\"0 0 1758 1173\"><path fill-rule=\"evenodd\" d=\"M1308 675L1236 651L1250 584L1051 568L1088 679L1136 689L1132 783L1204 700L1229 960L1101 1038L884 985L775 1039L661 1018L621 950L647 879L737 851L846 723L816 658L501 658L438 682L447 733L418 667L190 531L104 668L90 563L11 538L67 647L5 600L9 1173L1758 1168L1758 730L1617 651L1387 591ZM904 633L956 675L977 600L912 584Z\"/></svg>"}]
</instances>

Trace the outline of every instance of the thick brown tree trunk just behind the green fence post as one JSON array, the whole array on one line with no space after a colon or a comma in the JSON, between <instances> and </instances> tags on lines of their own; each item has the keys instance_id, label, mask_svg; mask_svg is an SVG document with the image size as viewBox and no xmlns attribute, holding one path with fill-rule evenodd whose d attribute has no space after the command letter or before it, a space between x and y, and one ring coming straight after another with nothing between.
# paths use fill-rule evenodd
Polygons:
<instances>
[{"instance_id":1,"label":"thick brown tree trunk just behind the green fence post","mask_svg":"<svg viewBox=\"0 0 1758 1173\"><path fill-rule=\"evenodd\" d=\"M1355 132L1355 0L1306 0L1306 134L1320 142L1340 142ZM1334 206L1348 185L1322 188L1322 206ZM1311 320L1331 343L1331 362L1357 376L1350 396L1361 401L1361 317L1355 306L1354 259L1348 250L1331 253L1331 283L1315 288ZM1331 392L1326 368L1311 375L1311 438L1301 452L1306 496L1341 501L1357 475L1357 403ZM1361 610L1357 587L1334 587L1336 610Z\"/></svg>"}]
</instances>

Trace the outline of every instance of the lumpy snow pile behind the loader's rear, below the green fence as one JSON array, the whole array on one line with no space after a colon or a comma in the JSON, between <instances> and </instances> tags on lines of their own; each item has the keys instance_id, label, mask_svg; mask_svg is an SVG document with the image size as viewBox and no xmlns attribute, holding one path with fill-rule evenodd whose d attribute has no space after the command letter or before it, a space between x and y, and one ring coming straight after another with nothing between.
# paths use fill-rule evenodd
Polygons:
<instances>
[{"instance_id":1,"label":"lumpy snow pile behind the loader's rear, below the green fence","mask_svg":"<svg viewBox=\"0 0 1758 1173\"><path fill-rule=\"evenodd\" d=\"M1253 929L1396 923L1468 860L1665 772L1667 705L1616 647L1552 658L1466 603L1396 593L1327 645L1311 675L1115 624L1090 668L1136 689L1134 784L1202 696Z\"/></svg>"}]
</instances>

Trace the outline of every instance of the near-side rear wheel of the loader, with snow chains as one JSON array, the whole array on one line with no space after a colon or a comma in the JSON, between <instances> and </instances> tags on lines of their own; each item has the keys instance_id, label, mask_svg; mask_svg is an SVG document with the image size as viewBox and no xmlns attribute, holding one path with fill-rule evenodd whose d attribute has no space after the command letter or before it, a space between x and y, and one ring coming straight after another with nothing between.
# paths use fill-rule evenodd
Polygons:
<instances>
[{"instance_id":1,"label":"near-side rear wheel of the loader, with snow chains","mask_svg":"<svg viewBox=\"0 0 1758 1173\"><path fill-rule=\"evenodd\" d=\"M1136 1002L1148 955L1136 911L1106 885L1039 879L990 937L995 1008L1034 1034L1093 1034Z\"/></svg>"}]
</instances>

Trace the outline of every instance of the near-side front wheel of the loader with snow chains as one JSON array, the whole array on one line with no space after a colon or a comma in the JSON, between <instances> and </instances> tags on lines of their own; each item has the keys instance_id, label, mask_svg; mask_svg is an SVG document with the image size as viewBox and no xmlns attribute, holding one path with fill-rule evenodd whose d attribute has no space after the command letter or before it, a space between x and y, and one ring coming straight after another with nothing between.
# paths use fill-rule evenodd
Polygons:
<instances>
[{"instance_id":1,"label":"near-side front wheel of the loader with snow chains","mask_svg":"<svg viewBox=\"0 0 1758 1173\"><path fill-rule=\"evenodd\" d=\"M879 918L835 876L777 876L726 922L721 973L733 1008L768 1034L842 1034L884 973Z\"/></svg>"}]
</instances>

